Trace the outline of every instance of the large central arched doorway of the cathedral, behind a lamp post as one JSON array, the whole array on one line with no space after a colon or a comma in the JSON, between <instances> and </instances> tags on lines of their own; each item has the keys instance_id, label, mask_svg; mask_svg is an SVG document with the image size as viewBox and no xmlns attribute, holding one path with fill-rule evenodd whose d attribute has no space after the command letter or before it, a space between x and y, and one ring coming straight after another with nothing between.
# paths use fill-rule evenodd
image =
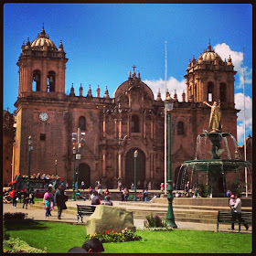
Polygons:
<instances>
[{"instance_id":1,"label":"large central arched doorway of the cathedral, behind a lamp post","mask_svg":"<svg viewBox=\"0 0 256 256\"><path fill-rule=\"evenodd\" d=\"M136 183L140 180L140 186L143 188L145 180L145 155L139 148L130 149L125 155L125 181L124 186L130 187L134 183L134 151L138 150L138 157L136 160Z\"/></svg>"}]
</instances>

